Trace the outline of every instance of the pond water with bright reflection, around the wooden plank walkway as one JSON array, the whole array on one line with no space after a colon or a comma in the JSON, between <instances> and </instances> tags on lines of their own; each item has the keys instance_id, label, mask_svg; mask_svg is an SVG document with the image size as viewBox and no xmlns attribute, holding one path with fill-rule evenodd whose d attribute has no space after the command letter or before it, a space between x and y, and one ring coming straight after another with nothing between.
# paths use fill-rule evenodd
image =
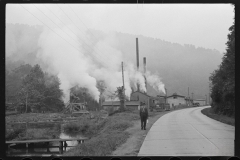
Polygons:
<instances>
[{"instance_id":1,"label":"pond water with bright reflection, around the wooden plank walkway","mask_svg":"<svg viewBox=\"0 0 240 160\"><path fill-rule=\"evenodd\" d=\"M59 135L60 139L71 139L71 138L82 138L80 135L67 135L65 133L61 133ZM68 151L72 147L78 144L77 141L66 141L67 147L63 148L63 152ZM12 145L7 150L7 156L61 156L61 152L59 150L59 142L50 142L47 146L44 143L36 143L34 148L26 149L26 144L20 145Z\"/></svg>"}]
</instances>

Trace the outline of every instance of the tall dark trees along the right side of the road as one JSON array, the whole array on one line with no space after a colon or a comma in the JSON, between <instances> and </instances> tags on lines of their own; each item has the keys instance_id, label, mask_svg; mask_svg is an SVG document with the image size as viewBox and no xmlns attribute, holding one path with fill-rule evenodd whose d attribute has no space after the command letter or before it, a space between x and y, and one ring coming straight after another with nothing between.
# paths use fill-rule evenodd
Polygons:
<instances>
[{"instance_id":1,"label":"tall dark trees along the right side of the road","mask_svg":"<svg viewBox=\"0 0 240 160\"><path fill-rule=\"evenodd\" d=\"M235 22L229 28L226 52L217 70L210 76L212 108L215 113L235 113Z\"/></svg>"}]
</instances>

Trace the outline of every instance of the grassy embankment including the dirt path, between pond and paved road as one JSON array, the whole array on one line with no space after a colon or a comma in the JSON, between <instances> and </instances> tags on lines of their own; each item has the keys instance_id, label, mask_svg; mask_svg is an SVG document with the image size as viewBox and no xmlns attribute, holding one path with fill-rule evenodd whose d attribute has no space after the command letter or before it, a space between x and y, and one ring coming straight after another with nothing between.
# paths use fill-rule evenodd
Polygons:
<instances>
[{"instance_id":1,"label":"grassy embankment including the dirt path, between pond and paved road","mask_svg":"<svg viewBox=\"0 0 240 160\"><path fill-rule=\"evenodd\" d=\"M183 109L184 106L176 108ZM83 121L79 124L69 124L64 127L65 132L75 131L81 135L91 137L83 144L79 144L73 149L65 152L64 156L109 156L115 155L116 150L120 150L117 155L136 156L144 135L162 115L171 112L149 112L149 123L147 130L140 129L139 111L127 111L116 113L107 119L95 121ZM132 138L133 137L133 138ZM129 150L124 150L127 141L134 143ZM129 143L128 143L129 144ZM129 145L128 145L129 146ZM125 147L127 148L127 147ZM130 153L131 152L131 153Z\"/></svg>"}]
</instances>

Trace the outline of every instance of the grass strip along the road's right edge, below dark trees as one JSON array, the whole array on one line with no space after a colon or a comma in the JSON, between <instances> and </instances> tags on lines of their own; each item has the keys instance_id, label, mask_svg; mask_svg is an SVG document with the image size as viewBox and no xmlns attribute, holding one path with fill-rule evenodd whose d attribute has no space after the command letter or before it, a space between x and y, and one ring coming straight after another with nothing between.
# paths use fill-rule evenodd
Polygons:
<instances>
[{"instance_id":1,"label":"grass strip along the road's right edge, below dark trees","mask_svg":"<svg viewBox=\"0 0 240 160\"><path fill-rule=\"evenodd\" d=\"M228 117L228 116L225 116L225 115L214 114L212 112L212 108L205 108L201 112L204 115L206 115L206 116L208 116L212 119L215 119L215 120L220 121L220 122L225 123L225 124L235 126L235 118Z\"/></svg>"}]
</instances>

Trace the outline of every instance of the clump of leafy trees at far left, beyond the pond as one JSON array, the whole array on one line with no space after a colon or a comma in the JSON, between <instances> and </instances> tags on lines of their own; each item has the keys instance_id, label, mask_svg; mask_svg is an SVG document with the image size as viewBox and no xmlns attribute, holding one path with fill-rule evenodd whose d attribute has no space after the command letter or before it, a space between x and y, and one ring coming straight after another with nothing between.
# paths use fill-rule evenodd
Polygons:
<instances>
[{"instance_id":1,"label":"clump of leafy trees at far left, beyond the pond","mask_svg":"<svg viewBox=\"0 0 240 160\"><path fill-rule=\"evenodd\" d=\"M60 111L63 92L57 76L43 72L36 64L21 65L6 71L6 103L21 112Z\"/></svg>"}]
</instances>

